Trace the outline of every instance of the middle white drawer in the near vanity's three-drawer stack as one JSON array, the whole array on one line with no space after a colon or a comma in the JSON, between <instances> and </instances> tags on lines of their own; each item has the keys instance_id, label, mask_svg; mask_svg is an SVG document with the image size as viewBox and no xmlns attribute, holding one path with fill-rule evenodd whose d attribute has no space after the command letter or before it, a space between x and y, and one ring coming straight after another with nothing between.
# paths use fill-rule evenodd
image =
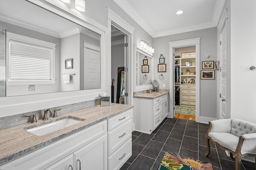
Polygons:
<instances>
[{"instance_id":1,"label":"middle white drawer in the near vanity's three-drawer stack","mask_svg":"<svg viewBox=\"0 0 256 170\"><path fill-rule=\"evenodd\" d=\"M108 132L108 156L132 137L132 119Z\"/></svg>"}]
</instances>

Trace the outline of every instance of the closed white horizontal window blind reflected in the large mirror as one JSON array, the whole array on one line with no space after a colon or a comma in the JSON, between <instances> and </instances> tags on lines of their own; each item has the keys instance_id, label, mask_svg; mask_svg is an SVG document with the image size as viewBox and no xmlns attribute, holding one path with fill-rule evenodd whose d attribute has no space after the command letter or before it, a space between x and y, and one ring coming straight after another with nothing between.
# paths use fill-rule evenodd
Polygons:
<instances>
[{"instance_id":1,"label":"closed white horizontal window blind reflected in the large mirror","mask_svg":"<svg viewBox=\"0 0 256 170\"><path fill-rule=\"evenodd\" d=\"M53 49L10 40L10 81L52 80Z\"/></svg>"}]
</instances>

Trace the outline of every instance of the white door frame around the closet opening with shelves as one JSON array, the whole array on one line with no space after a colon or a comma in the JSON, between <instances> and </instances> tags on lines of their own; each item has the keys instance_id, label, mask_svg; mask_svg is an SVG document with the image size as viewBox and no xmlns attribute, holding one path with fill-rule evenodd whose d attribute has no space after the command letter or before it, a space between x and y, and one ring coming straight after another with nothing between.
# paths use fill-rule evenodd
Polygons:
<instances>
[{"instance_id":1,"label":"white door frame around the closet opening with shelves","mask_svg":"<svg viewBox=\"0 0 256 170\"><path fill-rule=\"evenodd\" d=\"M174 86L174 54L175 48L178 47L189 47L189 46L196 46L196 122L204 122L200 119L200 37L199 38L192 38L187 40L179 40L174 42L169 42L170 47L170 112L168 117L173 118L175 116L174 112L174 105L175 105L175 86Z\"/></svg>"}]
</instances>

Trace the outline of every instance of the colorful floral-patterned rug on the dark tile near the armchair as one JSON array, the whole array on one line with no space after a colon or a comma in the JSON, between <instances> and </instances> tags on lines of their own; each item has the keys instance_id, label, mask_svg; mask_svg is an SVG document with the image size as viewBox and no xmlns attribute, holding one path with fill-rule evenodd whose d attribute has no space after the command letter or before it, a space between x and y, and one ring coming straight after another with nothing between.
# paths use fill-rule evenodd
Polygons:
<instances>
[{"instance_id":1,"label":"colorful floral-patterned rug on the dark tile near the armchair","mask_svg":"<svg viewBox=\"0 0 256 170\"><path fill-rule=\"evenodd\" d=\"M211 163L165 152L158 170L213 170Z\"/></svg>"}]
</instances>

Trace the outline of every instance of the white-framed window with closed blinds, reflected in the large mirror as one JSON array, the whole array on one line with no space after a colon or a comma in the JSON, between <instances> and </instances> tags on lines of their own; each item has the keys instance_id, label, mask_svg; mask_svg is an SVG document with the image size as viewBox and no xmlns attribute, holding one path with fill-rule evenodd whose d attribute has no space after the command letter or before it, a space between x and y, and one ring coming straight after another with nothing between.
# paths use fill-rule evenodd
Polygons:
<instances>
[{"instance_id":1,"label":"white-framed window with closed blinds, reflected in the large mirror","mask_svg":"<svg viewBox=\"0 0 256 170\"><path fill-rule=\"evenodd\" d=\"M54 83L55 45L7 32L7 81L11 84Z\"/></svg>"}]
</instances>

